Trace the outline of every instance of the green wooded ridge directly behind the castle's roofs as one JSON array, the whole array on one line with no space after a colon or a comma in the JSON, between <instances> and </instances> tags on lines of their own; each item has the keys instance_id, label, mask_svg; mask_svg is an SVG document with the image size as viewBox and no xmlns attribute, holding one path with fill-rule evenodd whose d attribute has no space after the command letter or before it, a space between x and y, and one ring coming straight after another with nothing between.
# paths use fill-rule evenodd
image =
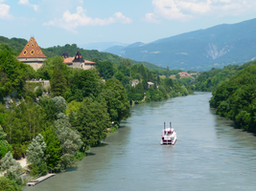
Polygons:
<instances>
[{"instance_id":1,"label":"green wooded ridge directly behind the castle's roofs","mask_svg":"<svg viewBox=\"0 0 256 191\"><path fill-rule=\"evenodd\" d=\"M21 51L23 50L24 46L27 44L27 40L22 39L22 38L7 38L4 36L0 36L0 45L1 44L6 44L8 45L12 50L14 50L15 53L13 53L14 55L18 55L19 53L21 53ZM1 47L0 47L1 49ZM100 53L96 50L83 50L81 48L78 48L78 46L76 44L66 44L65 46L55 46L55 47L50 47L50 48L46 48L43 49L41 48L42 52L47 56L47 57L54 57L56 55L61 55L62 53L69 53L70 56L74 56L77 51L79 50L81 53L81 56L84 59L87 60L92 60L92 58L98 58L101 61L111 61L115 64L120 64L121 61L124 59L123 57L120 57L116 54L113 53ZM142 62L137 62L132 60L131 64L143 64L144 66L146 66L149 69L164 69L161 68L159 66L156 66L154 64L151 64L150 62L146 62L146 61L142 61Z\"/></svg>"}]
</instances>

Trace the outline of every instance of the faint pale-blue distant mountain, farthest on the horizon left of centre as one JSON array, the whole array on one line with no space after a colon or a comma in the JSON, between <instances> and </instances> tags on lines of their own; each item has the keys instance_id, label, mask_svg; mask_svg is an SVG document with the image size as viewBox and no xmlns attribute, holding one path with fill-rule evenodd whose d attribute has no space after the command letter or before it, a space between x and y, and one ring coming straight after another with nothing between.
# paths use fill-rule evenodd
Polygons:
<instances>
[{"instance_id":1,"label":"faint pale-blue distant mountain, farthest on the horizon left of centre","mask_svg":"<svg viewBox=\"0 0 256 191\"><path fill-rule=\"evenodd\" d=\"M104 51L110 47L113 46L123 46L123 47L127 47L128 44L127 43L121 43L121 42L95 42L95 43L88 43L88 44L83 44L83 45L79 45L79 47L81 47L82 49L85 50L97 50L97 51Z\"/></svg>"}]
</instances>

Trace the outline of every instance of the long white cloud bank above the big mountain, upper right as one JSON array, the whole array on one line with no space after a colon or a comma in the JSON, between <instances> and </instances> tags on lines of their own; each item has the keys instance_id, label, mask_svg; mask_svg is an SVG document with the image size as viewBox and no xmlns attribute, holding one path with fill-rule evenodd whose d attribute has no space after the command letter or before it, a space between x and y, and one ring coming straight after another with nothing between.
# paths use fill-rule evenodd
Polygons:
<instances>
[{"instance_id":1,"label":"long white cloud bank above the big mountain, upper right","mask_svg":"<svg viewBox=\"0 0 256 191\"><path fill-rule=\"evenodd\" d=\"M190 20L198 16L240 15L254 11L255 0L152 0L153 12L146 13L144 20L151 18L167 20Z\"/></svg>"}]
</instances>

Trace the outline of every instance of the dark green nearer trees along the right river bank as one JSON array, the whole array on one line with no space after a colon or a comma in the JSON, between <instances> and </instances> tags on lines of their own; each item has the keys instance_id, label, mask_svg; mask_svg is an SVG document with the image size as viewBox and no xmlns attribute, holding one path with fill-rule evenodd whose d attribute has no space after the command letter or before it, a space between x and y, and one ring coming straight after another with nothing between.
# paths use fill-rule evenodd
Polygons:
<instances>
[{"instance_id":1,"label":"dark green nearer trees along the right river bank","mask_svg":"<svg viewBox=\"0 0 256 191\"><path fill-rule=\"evenodd\" d=\"M210 106L217 108L218 115L230 118L238 127L252 132L256 131L255 63L246 63L244 70L222 82L210 100Z\"/></svg>"}]
</instances>

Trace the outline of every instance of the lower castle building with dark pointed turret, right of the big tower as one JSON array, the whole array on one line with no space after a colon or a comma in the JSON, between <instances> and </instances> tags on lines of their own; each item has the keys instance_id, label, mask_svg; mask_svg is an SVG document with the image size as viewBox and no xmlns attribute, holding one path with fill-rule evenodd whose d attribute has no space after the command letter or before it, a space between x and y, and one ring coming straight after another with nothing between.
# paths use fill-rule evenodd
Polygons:
<instances>
[{"instance_id":1,"label":"lower castle building with dark pointed turret, right of the big tower","mask_svg":"<svg viewBox=\"0 0 256 191\"><path fill-rule=\"evenodd\" d=\"M68 53L62 53L61 56L64 58L63 63L69 67L83 70L95 69L96 62L82 59L79 51L74 57L69 57Z\"/></svg>"}]
</instances>

